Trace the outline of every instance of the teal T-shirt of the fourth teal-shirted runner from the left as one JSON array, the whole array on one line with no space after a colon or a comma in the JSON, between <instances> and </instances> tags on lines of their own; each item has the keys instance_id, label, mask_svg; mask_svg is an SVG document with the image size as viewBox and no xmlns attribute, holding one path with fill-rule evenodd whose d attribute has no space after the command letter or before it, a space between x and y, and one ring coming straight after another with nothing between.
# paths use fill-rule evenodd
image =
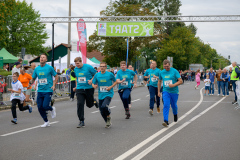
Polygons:
<instances>
[{"instance_id":1,"label":"teal T-shirt of the fourth teal-shirted runner from the left","mask_svg":"<svg viewBox=\"0 0 240 160\"><path fill-rule=\"evenodd\" d=\"M117 72L117 77L116 79L123 80L123 78L126 78L126 80L122 83L119 84L118 90L120 89L126 89L126 88L132 88L131 85L131 77L135 76L135 72L129 69L126 69L126 71L119 70Z\"/></svg>"}]
</instances>

